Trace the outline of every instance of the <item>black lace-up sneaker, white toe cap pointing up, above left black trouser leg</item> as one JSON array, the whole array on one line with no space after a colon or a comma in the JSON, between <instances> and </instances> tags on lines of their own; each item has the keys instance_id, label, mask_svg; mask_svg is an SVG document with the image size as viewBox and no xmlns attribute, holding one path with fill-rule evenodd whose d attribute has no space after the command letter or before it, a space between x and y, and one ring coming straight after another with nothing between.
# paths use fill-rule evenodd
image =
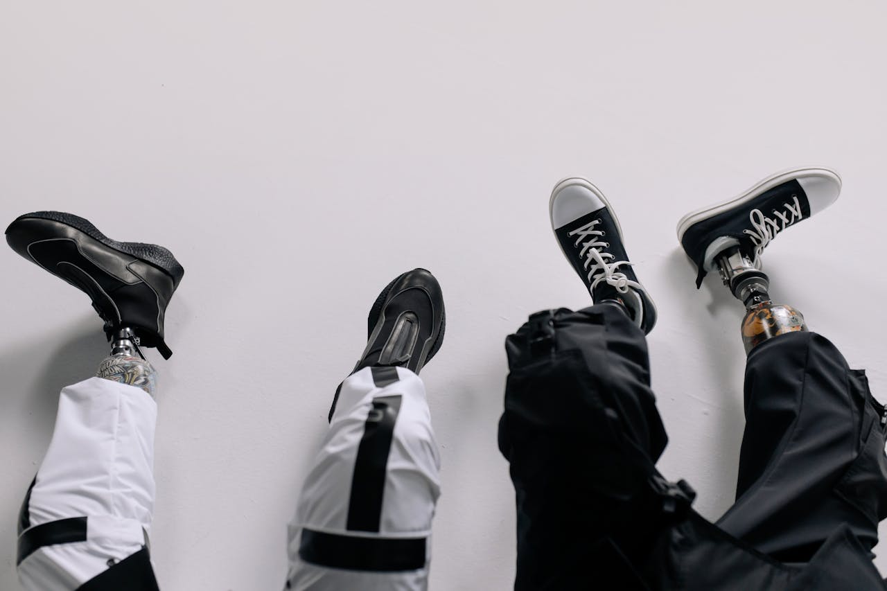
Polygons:
<instances>
[{"instance_id":1,"label":"black lace-up sneaker, white toe cap pointing up, above left black trouser leg","mask_svg":"<svg viewBox=\"0 0 887 591\"><path fill-rule=\"evenodd\" d=\"M548 205L554 235L594 302L621 300L644 333L653 330L656 307L632 270L616 212L585 178L554 185Z\"/></svg>"}]
</instances>

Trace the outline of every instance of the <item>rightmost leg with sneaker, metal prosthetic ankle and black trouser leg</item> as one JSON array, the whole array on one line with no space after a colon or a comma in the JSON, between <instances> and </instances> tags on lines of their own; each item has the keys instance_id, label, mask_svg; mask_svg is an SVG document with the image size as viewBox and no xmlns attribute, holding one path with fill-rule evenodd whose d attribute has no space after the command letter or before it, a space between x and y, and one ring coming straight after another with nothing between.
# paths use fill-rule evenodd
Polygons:
<instances>
[{"instance_id":1,"label":"rightmost leg with sneaker, metal prosthetic ankle and black trouser leg","mask_svg":"<svg viewBox=\"0 0 887 591\"><path fill-rule=\"evenodd\" d=\"M718 527L779 565L804 569L798 580L859 576L880 584L867 558L887 516L887 414L864 371L809 332L799 311L771 301L761 271L773 238L834 202L840 187L828 169L773 175L732 201L688 214L678 234L698 265L697 286L717 270L746 307L745 432L736 501ZM827 548L856 571L832 572L837 561L823 558Z\"/></svg>"}]
</instances>

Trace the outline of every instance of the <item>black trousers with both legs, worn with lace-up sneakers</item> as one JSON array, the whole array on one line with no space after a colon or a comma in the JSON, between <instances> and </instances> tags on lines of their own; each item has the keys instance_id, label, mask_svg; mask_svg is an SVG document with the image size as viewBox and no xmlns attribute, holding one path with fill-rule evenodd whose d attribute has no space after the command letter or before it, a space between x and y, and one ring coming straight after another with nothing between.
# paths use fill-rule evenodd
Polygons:
<instances>
[{"instance_id":1,"label":"black trousers with both legs, worn with lace-up sneakers","mask_svg":"<svg viewBox=\"0 0 887 591\"><path fill-rule=\"evenodd\" d=\"M887 588L870 553L887 516L887 414L827 339L751 351L736 502L717 524L655 469L667 437L623 311L534 314L506 352L515 589Z\"/></svg>"}]
</instances>

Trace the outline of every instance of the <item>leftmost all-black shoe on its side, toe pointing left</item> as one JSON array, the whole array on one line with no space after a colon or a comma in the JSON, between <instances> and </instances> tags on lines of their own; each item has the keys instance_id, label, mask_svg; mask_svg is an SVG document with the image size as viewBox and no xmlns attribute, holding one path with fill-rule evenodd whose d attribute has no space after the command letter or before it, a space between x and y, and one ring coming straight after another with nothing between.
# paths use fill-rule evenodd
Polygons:
<instances>
[{"instance_id":1,"label":"leftmost all-black shoe on its side, toe pointing left","mask_svg":"<svg viewBox=\"0 0 887 591\"><path fill-rule=\"evenodd\" d=\"M108 340L130 328L142 347L164 359L163 316L184 269L166 248L107 238L82 217L35 211L6 228L9 245L28 260L90 296Z\"/></svg>"}]
</instances>

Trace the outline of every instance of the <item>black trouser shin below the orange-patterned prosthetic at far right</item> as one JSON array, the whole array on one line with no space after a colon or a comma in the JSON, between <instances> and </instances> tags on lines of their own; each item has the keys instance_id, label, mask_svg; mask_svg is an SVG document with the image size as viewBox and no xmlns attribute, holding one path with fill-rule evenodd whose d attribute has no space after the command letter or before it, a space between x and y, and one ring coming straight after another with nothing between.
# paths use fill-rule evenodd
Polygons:
<instances>
[{"instance_id":1,"label":"black trouser shin below the orange-patterned prosthetic at far right","mask_svg":"<svg viewBox=\"0 0 887 591\"><path fill-rule=\"evenodd\" d=\"M737 499L721 529L791 563L809 562L841 525L873 548L887 516L876 407L864 374L828 339L793 333L758 345L745 373Z\"/></svg>"}]
</instances>

